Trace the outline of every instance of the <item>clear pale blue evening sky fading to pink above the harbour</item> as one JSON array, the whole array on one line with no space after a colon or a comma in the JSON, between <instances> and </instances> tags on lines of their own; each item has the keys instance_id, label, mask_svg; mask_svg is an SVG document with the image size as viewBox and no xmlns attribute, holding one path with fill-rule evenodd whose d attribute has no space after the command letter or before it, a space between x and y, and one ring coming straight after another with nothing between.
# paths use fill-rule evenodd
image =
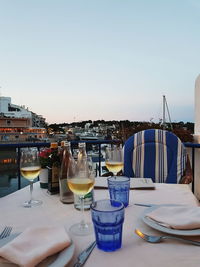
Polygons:
<instances>
[{"instance_id":1,"label":"clear pale blue evening sky fading to pink above the harbour","mask_svg":"<svg viewBox=\"0 0 200 267\"><path fill-rule=\"evenodd\" d=\"M194 121L199 0L0 0L0 93L48 123Z\"/></svg>"}]
</instances>

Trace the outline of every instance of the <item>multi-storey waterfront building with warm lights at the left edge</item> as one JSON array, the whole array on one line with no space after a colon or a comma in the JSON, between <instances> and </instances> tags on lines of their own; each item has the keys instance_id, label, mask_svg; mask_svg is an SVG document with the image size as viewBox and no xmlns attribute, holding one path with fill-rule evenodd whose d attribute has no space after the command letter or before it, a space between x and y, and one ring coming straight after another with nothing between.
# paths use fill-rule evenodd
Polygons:
<instances>
[{"instance_id":1,"label":"multi-storey waterfront building with warm lights at the left edge","mask_svg":"<svg viewBox=\"0 0 200 267\"><path fill-rule=\"evenodd\" d=\"M0 141L37 141L46 139L45 118L0 97Z\"/></svg>"}]
</instances>

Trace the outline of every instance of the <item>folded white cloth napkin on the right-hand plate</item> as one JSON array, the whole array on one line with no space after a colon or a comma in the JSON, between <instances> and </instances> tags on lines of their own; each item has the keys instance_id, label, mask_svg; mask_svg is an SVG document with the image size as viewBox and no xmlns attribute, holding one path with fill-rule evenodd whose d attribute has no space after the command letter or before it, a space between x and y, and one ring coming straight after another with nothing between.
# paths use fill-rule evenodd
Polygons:
<instances>
[{"instance_id":1,"label":"folded white cloth napkin on the right-hand plate","mask_svg":"<svg viewBox=\"0 0 200 267\"><path fill-rule=\"evenodd\" d=\"M146 214L146 217L172 229L193 230L200 228L200 207L161 206Z\"/></svg>"}]
</instances>

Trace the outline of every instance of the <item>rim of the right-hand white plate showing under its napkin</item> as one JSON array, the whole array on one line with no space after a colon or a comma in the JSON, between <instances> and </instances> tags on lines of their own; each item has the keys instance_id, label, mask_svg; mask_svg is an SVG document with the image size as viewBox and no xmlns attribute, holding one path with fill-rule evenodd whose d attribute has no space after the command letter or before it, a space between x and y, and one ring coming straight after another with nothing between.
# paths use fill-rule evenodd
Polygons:
<instances>
[{"instance_id":1,"label":"rim of the right-hand white plate showing under its napkin","mask_svg":"<svg viewBox=\"0 0 200 267\"><path fill-rule=\"evenodd\" d=\"M146 217L147 213L149 213L149 212L151 212L151 211L153 211L159 207L160 207L160 205L145 209L145 212L142 215L143 222L146 223L148 226L152 227L153 229L156 229L160 232L164 232L164 233L171 234L171 235L185 235L185 236L198 236L198 235L200 235L200 229L194 229L194 230L171 229L171 228L164 227L164 226L160 225L159 223L157 223L156 221Z\"/></svg>"}]
</instances>

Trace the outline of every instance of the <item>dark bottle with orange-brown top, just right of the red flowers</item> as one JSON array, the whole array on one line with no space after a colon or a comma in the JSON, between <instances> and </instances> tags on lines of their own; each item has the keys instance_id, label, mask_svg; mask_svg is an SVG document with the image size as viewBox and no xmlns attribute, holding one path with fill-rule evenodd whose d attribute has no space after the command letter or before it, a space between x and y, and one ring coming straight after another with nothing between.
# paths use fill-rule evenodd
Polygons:
<instances>
[{"instance_id":1,"label":"dark bottle with orange-brown top, just right of the red flowers","mask_svg":"<svg viewBox=\"0 0 200 267\"><path fill-rule=\"evenodd\" d=\"M60 158L58 143L51 143L50 166L48 166L48 192L57 194L59 192Z\"/></svg>"}]
</instances>

